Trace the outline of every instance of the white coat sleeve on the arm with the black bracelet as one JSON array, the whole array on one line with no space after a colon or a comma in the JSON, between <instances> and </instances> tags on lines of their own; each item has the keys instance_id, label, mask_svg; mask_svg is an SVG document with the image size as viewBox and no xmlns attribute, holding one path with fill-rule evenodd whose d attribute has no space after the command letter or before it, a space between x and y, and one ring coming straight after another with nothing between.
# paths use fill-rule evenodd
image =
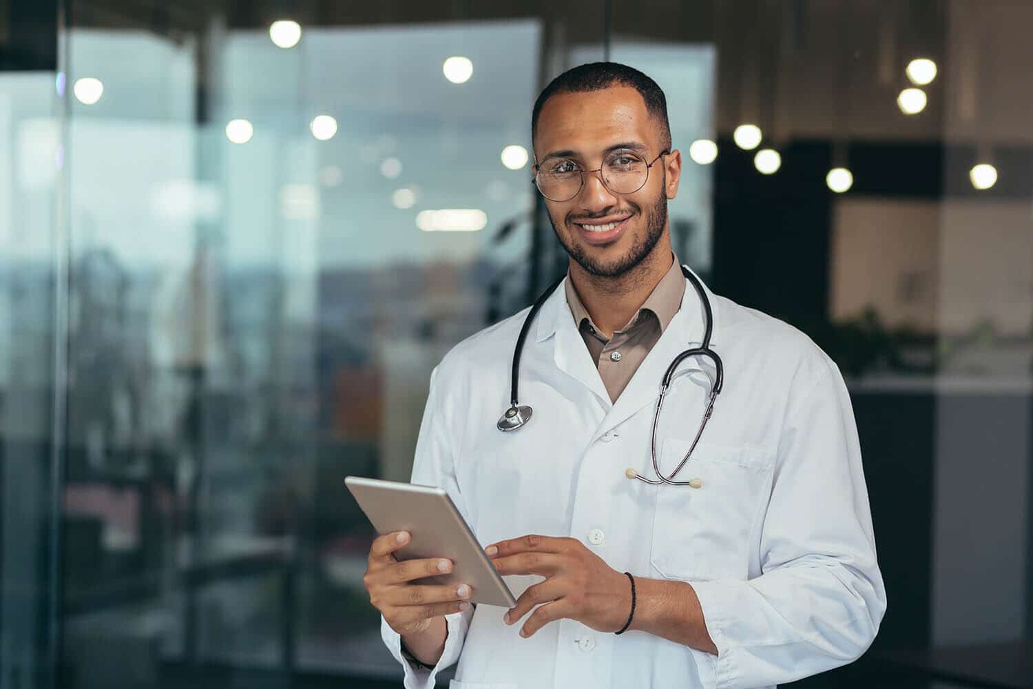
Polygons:
<instances>
[{"instance_id":1,"label":"white coat sleeve on the arm with the black bracelet","mask_svg":"<svg viewBox=\"0 0 1033 689\"><path fill-rule=\"evenodd\" d=\"M824 358L789 407L761 528L762 573L691 583L718 649L716 658L693 651L713 669L709 689L783 684L852 662L885 612L850 398Z\"/></svg>"}]
</instances>

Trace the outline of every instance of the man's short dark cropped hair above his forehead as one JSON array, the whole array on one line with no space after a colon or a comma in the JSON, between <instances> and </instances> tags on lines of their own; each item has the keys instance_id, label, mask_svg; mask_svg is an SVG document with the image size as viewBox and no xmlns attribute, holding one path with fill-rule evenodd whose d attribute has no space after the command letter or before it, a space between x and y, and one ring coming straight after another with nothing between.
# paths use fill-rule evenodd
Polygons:
<instances>
[{"instance_id":1,"label":"man's short dark cropped hair above his forehead","mask_svg":"<svg viewBox=\"0 0 1033 689\"><path fill-rule=\"evenodd\" d=\"M545 105L546 100L557 93L602 91L614 86L627 86L638 92L638 95L646 101L646 109L660 123L661 145L669 150L670 122L667 120L667 97L663 95L663 89L634 67L617 62L590 62L578 65L550 82L549 86L538 94L538 99L534 101L534 111L531 113L532 146L534 145L534 135L538 131L538 116L541 115L541 108Z\"/></svg>"}]
</instances>

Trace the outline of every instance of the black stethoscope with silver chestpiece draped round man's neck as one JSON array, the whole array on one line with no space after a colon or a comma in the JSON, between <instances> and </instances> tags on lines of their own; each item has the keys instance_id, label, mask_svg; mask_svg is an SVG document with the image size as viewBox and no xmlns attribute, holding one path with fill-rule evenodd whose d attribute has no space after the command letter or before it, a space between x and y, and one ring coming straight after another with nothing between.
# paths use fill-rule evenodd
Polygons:
<instances>
[{"instance_id":1,"label":"black stethoscope with silver chestpiece draped round man's neck","mask_svg":"<svg viewBox=\"0 0 1033 689\"><path fill-rule=\"evenodd\" d=\"M693 275L692 271L685 268L684 265L682 265L681 268L682 268L682 273L685 275L688 281L692 283L692 286L695 287L696 293L699 295L699 303L703 307L703 317L706 324L706 327L703 330L703 341L698 347L693 347L692 349L686 349L681 354L676 356L675 359L670 363L670 366L667 367L666 373L663 374L663 381L661 381L660 383L660 398L656 402L656 412L653 414L653 432L651 434L651 440L650 440L650 450L653 456L653 470L656 472L658 480L646 478L645 476L643 476L641 474L639 474L637 471L635 471L630 467L628 468L628 470L625 472L624 475L627 476L628 478L637 478L638 480L645 481L652 486L660 486L662 483L667 483L668 486L693 486L693 488L696 488L697 479L693 479L691 481L676 481L674 479L675 476L678 475L678 472L682 470L682 467L684 467L685 464L689 461L689 458L692 457L692 450L696 448L696 444L699 442L699 438L703 434L703 429L707 428L707 421L710 419L711 414L714 411L714 402L715 400L717 400L717 396L721 393L721 387L724 384L724 366L721 364L721 357L718 356L717 352L711 349L710 346L710 339L712 332L714 330L714 312L711 310L711 304L710 300L707 299L707 292L703 291L703 285L701 282L699 282L699 278ZM555 283L553 283L549 287L549 289L542 292L541 296L538 297L538 300L531 307L531 311L527 314L527 318L524 320L524 326L521 328L520 336L516 338L516 349L513 351L512 378L509 386L510 407L506 409L505 413L502 414L502 416L499 418L498 424L496 424L498 429L505 433L522 429L529 420L531 420L533 409L531 409L531 407L529 407L528 405L520 404L520 402L518 402L516 400L516 380L520 377L520 355L521 352L524 351L524 340L527 339L527 333L531 328L531 322L537 315L538 310L541 308L541 305L545 303L545 300L549 299L549 295L552 294L553 291L560 286L564 278L560 278ZM679 365L681 365L683 361L685 361L690 356L709 357L712 362L714 362L714 368L717 371L717 375L715 377L714 384L711 386L710 399L707 403L707 412L703 414L702 422L699 424L699 430L696 431L696 437L692 440L692 445L689 446L689 451L685 453L685 458L675 468L675 470L670 472L670 475L664 476L662 473L660 473L660 464L656 458L656 429L660 421L660 410L663 408L663 400L667 395L667 388L670 386L670 379L671 377L674 377L675 371L678 369Z\"/></svg>"}]
</instances>

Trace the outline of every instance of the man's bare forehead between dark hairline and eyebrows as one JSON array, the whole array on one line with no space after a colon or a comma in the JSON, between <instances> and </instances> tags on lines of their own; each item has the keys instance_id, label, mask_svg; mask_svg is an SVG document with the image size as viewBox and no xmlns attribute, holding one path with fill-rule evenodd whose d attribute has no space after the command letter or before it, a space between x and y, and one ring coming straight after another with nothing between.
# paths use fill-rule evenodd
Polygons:
<instances>
[{"instance_id":1,"label":"man's bare forehead between dark hairline and eyebrows","mask_svg":"<svg viewBox=\"0 0 1033 689\"><path fill-rule=\"evenodd\" d=\"M657 128L646 101L631 87L558 93L538 115L534 148L544 156L561 149L593 153L629 140L654 145Z\"/></svg>"}]
</instances>

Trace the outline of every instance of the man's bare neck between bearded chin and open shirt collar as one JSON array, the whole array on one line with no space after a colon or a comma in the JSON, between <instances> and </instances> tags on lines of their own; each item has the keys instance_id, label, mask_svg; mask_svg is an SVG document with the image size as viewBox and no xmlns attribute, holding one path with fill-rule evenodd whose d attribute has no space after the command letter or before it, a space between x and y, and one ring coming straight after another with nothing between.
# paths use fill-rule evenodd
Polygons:
<instances>
[{"instance_id":1,"label":"man's bare neck between bearded chin and open shirt collar","mask_svg":"<svg viewBox=\"0 0 1033 689\"><path fill-rule=\"evenodd\" d=\"M658 242L640 263L615 278L593 275L571 259L570 280L592 322L609 338L641 308L674 260L669 244Z\"/></svg>"}]
</instances>

